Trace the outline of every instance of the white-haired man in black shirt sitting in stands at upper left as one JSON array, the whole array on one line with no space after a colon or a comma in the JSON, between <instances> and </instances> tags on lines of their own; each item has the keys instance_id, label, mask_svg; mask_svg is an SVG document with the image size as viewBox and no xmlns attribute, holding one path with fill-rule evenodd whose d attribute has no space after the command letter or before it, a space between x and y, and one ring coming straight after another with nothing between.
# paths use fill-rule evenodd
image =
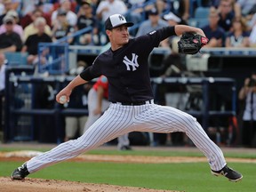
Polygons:
<instances>
[{"instance_id":1,"label":"white-haired man in black shirt sitting in stands at upper left","mask_svg":"<svg viewBox=\"0 0 256 192\"><path fill-rule=\"evenodd\" d=\"M40 42L52 42L52 37L47 35L45 31L46 20L43 17L36 18L34 24L36 28L36 34L28 36L24 46L22 47L22 52L28 52L28 64L35 65L38 62L38 52L37 46ZM44 55L41 56L41 63L45 62Z\"/></svg>"}]
</instances>

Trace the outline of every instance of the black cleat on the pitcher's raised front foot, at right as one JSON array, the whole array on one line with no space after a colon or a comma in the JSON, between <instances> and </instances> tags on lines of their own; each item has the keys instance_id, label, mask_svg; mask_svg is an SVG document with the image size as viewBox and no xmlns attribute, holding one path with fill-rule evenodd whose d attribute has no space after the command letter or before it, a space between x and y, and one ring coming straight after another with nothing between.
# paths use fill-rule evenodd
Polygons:
<instances>
[{"instance_id":1,"label":"black cleat on the pitcher's raised front foot, at right","mask_svg":"<svg viewBox=\"0 0 256 192\"><path fill-rule=\"evenodd\" d=\"M238 180L242 180L243 175L239 172L236 172L235 170L228 167L228 165L225 165L220 171L213 171L212 174L215 176L223 175L224 177L228 178L228 180L236 182Z\"/></svg>"}]
</instances>

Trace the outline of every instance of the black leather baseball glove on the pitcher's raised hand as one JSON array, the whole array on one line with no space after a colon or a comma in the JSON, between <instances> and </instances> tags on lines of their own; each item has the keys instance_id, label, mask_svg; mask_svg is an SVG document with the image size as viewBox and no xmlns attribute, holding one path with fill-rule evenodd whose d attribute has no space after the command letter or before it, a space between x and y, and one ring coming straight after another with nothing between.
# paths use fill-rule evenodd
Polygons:
<instances>
[{"instance_id":1,"label":"black leather baseball glove on the pitcher's raised hand","mask_svg":"<svg viewBox=\"0 0 256 192\"><path fill-rule=\"evenodd\" d=\"M208 41L207 37L192 32L184 33L178 42L179 52L184 54L196 54Z\"/></svg>"}]
</instances>

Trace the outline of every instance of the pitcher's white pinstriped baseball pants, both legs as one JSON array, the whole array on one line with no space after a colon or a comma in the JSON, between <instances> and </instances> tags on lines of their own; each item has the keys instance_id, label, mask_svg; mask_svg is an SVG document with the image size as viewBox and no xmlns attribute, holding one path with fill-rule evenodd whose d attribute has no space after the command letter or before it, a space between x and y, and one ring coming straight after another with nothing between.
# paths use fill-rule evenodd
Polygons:
<instances>
[{"instance_id":1,"label":"pitcher's white pinstriped baseball pants, both legs","mask_svg":"<svg viewBox=\"0 0 256 192\"><path fill-rule=\"evenodd\" d=\"M123 106L110 104L103 116L77 140L68 140L27 162L28 172L73 158L127 132L186 132L189 139L207 157L214 171L222 169L225 158L220 148L209 139L196 118L179 109L145 104Z\"/></svg>"}]
</instances>

